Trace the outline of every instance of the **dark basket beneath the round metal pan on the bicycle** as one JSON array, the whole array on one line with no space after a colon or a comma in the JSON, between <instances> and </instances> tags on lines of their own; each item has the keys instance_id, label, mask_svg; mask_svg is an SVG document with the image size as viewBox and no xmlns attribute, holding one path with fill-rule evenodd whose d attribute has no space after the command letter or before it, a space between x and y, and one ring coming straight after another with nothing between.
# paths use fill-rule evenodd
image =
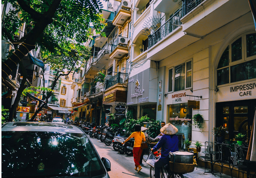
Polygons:
<instances>
[{"instance_id":1,"label":"dark basket beneath the round metal pan on the bicycle","mask_svg":"<svg viewBox=\"0 0 256 178\"><path fill-rule=\"evenodd\" d=\"M182 173L182 174L193 172L196 166L195 164L183 164L183 163L174 163L174 166L173 166L172 161L169 161L169 165L172 172Z\"/></svg>"}]
</instances>

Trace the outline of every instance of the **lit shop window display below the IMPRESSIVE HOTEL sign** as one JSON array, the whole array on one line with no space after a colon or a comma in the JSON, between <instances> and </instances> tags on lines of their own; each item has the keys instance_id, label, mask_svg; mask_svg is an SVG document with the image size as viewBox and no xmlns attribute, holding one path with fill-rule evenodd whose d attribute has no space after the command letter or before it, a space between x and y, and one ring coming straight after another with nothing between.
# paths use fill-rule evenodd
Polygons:
<instances>
[{"instance_id":1,"label":"lit shop window display below the IMPRESSIVE HOTEL sign","mask_svg":"<svg viewBox=\"0 0 256 178\"><path fill-rule=\"evenodd\" d=\"M192 109L188 103L169 105L169 123L178 128L179 147L185 148L184 140L191 140Z\"/></svg>"}]
</instances>

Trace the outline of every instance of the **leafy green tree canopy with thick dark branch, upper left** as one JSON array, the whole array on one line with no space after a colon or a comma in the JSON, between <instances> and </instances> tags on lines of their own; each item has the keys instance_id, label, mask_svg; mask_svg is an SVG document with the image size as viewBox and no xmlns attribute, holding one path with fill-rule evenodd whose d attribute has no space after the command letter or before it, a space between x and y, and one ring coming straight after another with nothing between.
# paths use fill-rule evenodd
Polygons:
<instances>
[{"instance_id":1,"label":"leafy green tree canopy with thick dark branch, upper left","mask_svg":"<svg viewBox=\"0 0 256 178\"><path fill-rule=\"evenodd\" d=\"M97 33L104 25L99 0L6 0L12 9L2 19L2 37L7 38L15 51L2 61L2 79L21 63L21 59L36 46L45 54L57 53L63 46L76 42L81 45L90 38L90 23ZM5 4L6 5L6 4ZM18 40L19 27L26 25L25 35ZM104 34L102 34L104 36Z\"/></svg>"}]
</instances>

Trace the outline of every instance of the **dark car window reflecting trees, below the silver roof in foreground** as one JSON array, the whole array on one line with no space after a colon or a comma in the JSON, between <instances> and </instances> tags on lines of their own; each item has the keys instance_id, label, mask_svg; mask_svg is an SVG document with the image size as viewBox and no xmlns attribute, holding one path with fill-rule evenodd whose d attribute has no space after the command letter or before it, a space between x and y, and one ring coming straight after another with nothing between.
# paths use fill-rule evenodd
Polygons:
<instances>
[{"instance_id":1,"label":"dark car window reflecting trees, below the silver roof in foreground","mask_svg":"<svg viewBox=\"0 0 256 178\"><path fill-rule=\"evenodd\" d=\"M2 177L105 175L85 134L2 132Z\"/></svg>"}]
</instances>

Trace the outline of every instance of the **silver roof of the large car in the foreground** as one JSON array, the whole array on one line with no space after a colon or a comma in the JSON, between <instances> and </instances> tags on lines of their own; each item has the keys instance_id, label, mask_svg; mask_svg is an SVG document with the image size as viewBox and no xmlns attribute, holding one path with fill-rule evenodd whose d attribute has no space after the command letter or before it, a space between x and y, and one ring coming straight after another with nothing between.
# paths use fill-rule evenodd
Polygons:
<instances>
[{"instance_id":1,"label":"silver roof of the large car in the foreground","mask_svg":"<svg viewBox=\"0 0 256 178\"><path fill-rule=\"evenodd\" d=\"M45 122L10 122L2 126L4 131L84 133L75 125Z\"/></svg>"}]
</instances>

